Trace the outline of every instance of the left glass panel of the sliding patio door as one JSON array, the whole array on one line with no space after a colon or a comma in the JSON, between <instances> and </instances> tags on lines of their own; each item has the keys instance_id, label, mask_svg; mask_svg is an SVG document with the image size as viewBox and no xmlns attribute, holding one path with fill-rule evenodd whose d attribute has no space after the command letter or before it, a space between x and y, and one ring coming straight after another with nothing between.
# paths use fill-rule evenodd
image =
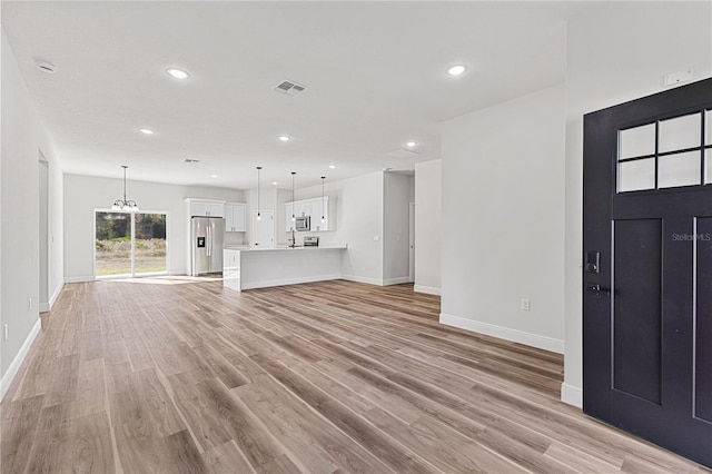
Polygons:
<instances>
[{"instance_id":1,"label":"left glass panel of the sliding patio door","mask_svg":"<svg viewBox=\"0 0 712 474\"><path fill-rule=\"evenodd\" d=\"M131 215L96 213L97 276L131 274Z\"/></svg>"}]
</instances>

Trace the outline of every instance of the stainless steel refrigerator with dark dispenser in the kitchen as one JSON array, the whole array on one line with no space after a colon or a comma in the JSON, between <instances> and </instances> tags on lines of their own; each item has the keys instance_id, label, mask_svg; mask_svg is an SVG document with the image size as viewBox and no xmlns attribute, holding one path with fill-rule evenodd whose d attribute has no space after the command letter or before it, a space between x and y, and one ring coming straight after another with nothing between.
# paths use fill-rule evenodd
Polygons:
<instances>
[{"instance_id":1,"label":"stainless steel refrigerator with dark dispenser in the kitchen","mask_svg":"<svg viewBox=\"0 0 712 474\"><path fill-rule=\"evenodd\" d=\"M190 229L190 275L222 271L225 219L221 217L194 217Z\"/></svg>"}]
</instances>

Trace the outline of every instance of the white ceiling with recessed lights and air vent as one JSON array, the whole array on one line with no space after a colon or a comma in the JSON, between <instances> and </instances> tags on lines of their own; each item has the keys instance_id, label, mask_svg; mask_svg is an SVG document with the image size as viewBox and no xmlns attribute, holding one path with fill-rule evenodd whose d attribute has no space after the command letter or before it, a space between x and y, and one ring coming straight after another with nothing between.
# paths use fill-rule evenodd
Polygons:
<instances>
[{"instance_id":1,"label":"white ceiling with recessed lights and air vent","mask_svg":"<svg viewBox=\"0 0 712 474\"><path fill-rule=\"evenodd\" d=\"M256 166L263 184L294 170L303 187L439 158L441 121L564 79L565 20L582 8L3 1L2 26L66 172L129 165L129 179L245 189ZM457 62L469 69L447 77ZM284 79L309 89L271 90ZM386 155L407 140L417 156Z\"/></svg>"}]
</instances>

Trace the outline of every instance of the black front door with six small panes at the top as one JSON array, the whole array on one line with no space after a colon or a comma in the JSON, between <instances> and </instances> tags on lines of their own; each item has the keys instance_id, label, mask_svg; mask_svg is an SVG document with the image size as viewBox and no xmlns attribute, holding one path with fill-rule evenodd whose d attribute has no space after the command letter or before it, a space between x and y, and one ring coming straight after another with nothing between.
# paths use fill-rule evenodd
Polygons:
<instances>
[{"instance_id":1,"label":"black front door with six small panes at the top","mask_svg":"<svg viewBox=\"0 0 712 474\"><path fill-rule=\"evenodd\" d=\"M712 79L584 118L584 412L712 466Z\"/></svg>"}]
</instances>

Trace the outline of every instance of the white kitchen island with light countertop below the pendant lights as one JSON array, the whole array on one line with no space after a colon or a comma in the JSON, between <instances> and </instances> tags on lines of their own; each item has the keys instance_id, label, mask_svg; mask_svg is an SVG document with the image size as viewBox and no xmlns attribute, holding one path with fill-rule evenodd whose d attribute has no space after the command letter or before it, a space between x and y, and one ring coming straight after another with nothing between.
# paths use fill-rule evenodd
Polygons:
<instances>
[{"instance_id":1,"label":"white kitchen island with light countertop below the pendant lights","mask_svg":"<svg viewBox=\"0 0 712 474\"><path fill-rule=\"evenodd\" d=\"M222 285L236 289L265 288L340 278L347 245L320 247L226 248Z\"/></svg>"}]
</instances>

